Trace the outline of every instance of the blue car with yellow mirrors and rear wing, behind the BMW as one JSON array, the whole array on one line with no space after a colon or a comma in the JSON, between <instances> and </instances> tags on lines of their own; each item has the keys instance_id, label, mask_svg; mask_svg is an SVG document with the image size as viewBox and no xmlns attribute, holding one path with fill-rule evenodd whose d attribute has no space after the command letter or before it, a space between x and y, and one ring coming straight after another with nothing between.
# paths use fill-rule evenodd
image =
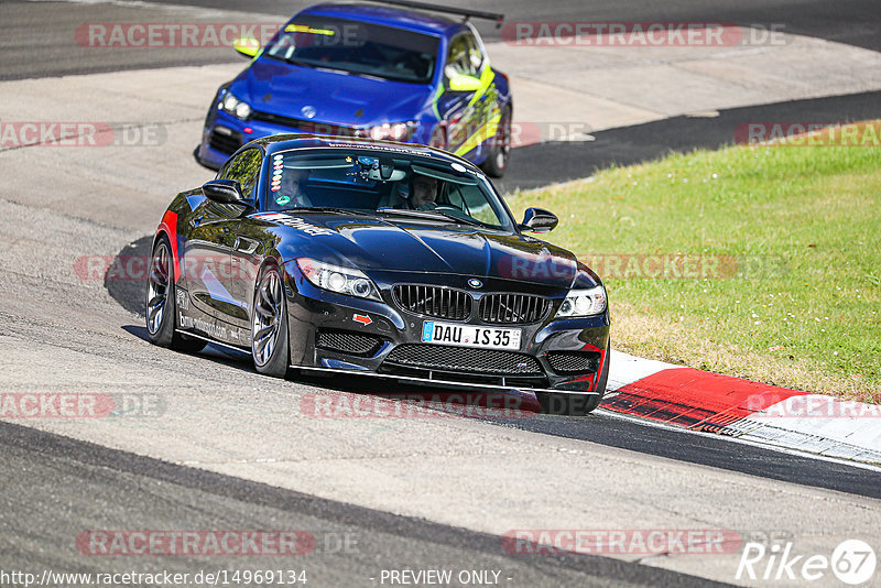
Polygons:
<instances>
[{"instance_id":1,"label":"blue car with yellow mirrors and rear wing, behind the BMW","mask_svg":"<svg viewBox=\"0 0 881 588\"><path fill-rule=\"evenodd\" d=\"M318 4L264 47L238 40L236 50L253 59L211 101L199 163L216 170L253 139L298 132L431 145L501 177L510 154L510 85L468 19L503 17L387 3L406 8Z\"/></svg>"}]
</instances>

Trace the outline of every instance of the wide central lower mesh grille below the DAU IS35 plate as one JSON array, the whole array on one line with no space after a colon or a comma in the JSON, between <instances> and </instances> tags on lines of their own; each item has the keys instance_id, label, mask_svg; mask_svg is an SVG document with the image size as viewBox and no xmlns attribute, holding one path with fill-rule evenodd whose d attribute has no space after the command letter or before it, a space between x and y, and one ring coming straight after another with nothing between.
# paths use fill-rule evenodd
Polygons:
<instances>
[{"instance_id":1,"label":"wide central lower mesh grille below the DAU IS35 plate","mask_svg":"<svg viewBox=\"0 0 881 588\"><path fill-rule=\"evenodd\" d=\"M445 345L399 345L384 363L493 375L544 375L539 361L532 356Z\"/></svg>"}]
</instances>

